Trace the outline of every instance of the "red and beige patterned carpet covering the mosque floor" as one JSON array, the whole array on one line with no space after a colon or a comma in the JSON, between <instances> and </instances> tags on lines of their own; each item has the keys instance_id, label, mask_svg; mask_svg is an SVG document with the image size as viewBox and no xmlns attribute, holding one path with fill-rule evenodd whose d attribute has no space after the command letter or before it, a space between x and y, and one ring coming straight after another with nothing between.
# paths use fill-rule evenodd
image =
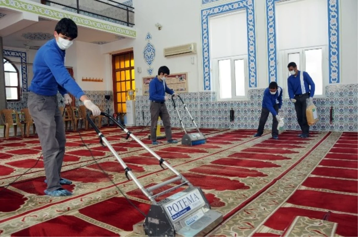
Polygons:
<instances>
[{"instance_id":1,"label":"red and beige patterned carpet covering the mosque floor","mask_svg":"<svg viewBox=\"0 0 358 237\"><path fill-rule=\"evenodd\" d=\"M223 213L224 222L210 236L280 236L296 216L323 219L328 211L325 219L338 223L337 234L356 236L358 149L345 147L352 147L358 134L313 132L303 140L285 131L273 140L269 133L253 137L253 130L202 129L207 144L188 147L153 146L147 128L130 130L200 186L212 208ZM139 144L126 141L120 129L101 132L145 187L173 178ZM81 146L78 133L68 132L62 176L73 181L63 186L73 195L58 198L43 193L37 137L0 140L0 186L32 168L0 188L0 236L137 236L132 225L144 217L108 177L144 213L149 200L126 179L94 131L81 135L91 151ZM173 129L173 137L182 135Z\"/></svg>"}]
</instances>

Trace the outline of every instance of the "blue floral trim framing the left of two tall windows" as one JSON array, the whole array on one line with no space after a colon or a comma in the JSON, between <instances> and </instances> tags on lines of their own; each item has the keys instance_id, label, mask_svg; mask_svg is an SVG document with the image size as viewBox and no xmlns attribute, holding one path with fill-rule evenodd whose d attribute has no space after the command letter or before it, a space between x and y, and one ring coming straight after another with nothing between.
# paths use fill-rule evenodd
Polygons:
<instances>
[{"instance_id":1,"label":"blue floral trim framing the left of two tall windows","mask_svg":"<svg viewBox=\"0 0 358 237\"><path fill-rule=\"evenodd\" d=\"M233 3L227 3L211 8L203 9L201 11L202 23L202 47L203 47L203 76L204 76L204 90L211 90L211 73L210 73L210 50L209 50L209 17L228 13L230 11L237 11L246 9L247 15L247 52L248 52L248 67L249 67L249 87L257 87L256 78L256 38L255 38L255 12L254 0L240 0Z\"/></svg>"}]
</instances>

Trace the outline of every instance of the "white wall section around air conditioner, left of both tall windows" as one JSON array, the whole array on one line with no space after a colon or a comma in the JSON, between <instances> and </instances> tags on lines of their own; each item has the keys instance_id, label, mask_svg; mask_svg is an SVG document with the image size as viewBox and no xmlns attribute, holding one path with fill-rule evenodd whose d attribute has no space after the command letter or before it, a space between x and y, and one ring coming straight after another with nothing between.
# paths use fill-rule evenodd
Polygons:
<instances>
[{"instance_id":1,"label":"white wall section around air conditioner, left of both tall windows","mask_svg":"<svg viewBox=\"0 0 358 237\"><path fill-rule=\"evenodd\" d=\"M165 9L166 2L163 0L134 1L135 8L135 27L137 38L124 39L113 43L102 45L102 53L113 53L117 50L133 48L135 68L141 67L142 72L135 74L136 86L139 88L137 95L142 95L141 78L149 76L146 72L149 66L143 58L143 50L147 43L146 34L152 35L151 44L156 49L156 57L153 64L153 75L158 73L160 66L168 66L171 73L188 72L188 90L197 92L199 88L203 90L202 65L201 65L201 39L200 39L200 1L193 0L172 0L170 9ZM160 10L158 8L160 7ZM163 28L158 30L156 23L160 23ZM180 29L180 30L179 30ZM163 48L197 43L197 55L184 55L173 58L164 58ZM198 60L199 56L199 60ZM194 64L191 63L191 57L194 57ZM111 70L110 65L106 65L106 73Z\"/></svg>"}]
</instances>

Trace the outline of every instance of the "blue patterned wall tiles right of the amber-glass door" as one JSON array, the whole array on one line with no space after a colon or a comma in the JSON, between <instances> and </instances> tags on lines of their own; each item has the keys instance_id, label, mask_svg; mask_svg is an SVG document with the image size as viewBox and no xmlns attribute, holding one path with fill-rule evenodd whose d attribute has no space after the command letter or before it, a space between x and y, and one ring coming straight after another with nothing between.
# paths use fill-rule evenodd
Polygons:
<instances>
[{"instance_id":1,"label":"blue patterned wall tiles right of the amber-glass door","mask_svg":"<svg viewBox=\"0 0 358 237\"><path fill-rule=\"evenodd\" d=\"M216 101L214 92L185 93L182 95L199 127L257 129L262 108L264 89L249 90L247 101ZM342 93L344 91L344 93ZM319 121L311 126L312 131L358 131L358 84L332 85L326 87L326 98L314 99ZM149 121L149 98L137 96L140 100L140 112L136 112L137 125L145 125L142 121L142 112L145 121ZM171 125L180 127L176 111L170 102L166 103L171 116ZM330 124L330 110L333 108L333 122ZM233 108L235 119L230 122L230 109ZM193 127L190 117L185 113L182 105L178 104L179 115L182 116L185 126ZM284 117L285 129L300 130L297 124L295 107L289 100L284 100L280 115ZM271 129L272 115L267 119L265 129Z\"/></svg>"}]
</instances>

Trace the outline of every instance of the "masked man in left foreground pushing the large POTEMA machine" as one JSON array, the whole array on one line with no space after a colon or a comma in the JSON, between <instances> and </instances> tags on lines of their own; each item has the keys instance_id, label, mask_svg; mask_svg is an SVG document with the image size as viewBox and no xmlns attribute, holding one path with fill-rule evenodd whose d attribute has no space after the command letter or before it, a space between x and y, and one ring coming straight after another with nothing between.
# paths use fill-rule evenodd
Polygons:
<instances>
[{"instance_id":1,"label":"masked man in left foreground pushing the large POTEMA machine","mask_svg":"<svg viewBox=\"0 0 358 237\"><path fill-rule=\"evenodd\" d=\"M68 92L81 100L94 116L100 109L84 94L64 66L65 50L77 38L77 25L71 19L61 19L54 32L54 39L45 43L36 53L33 63L33 79L29 87L28 108L39 136L47 189L50 196L69 196L72 193L61 185L72 184L61 178L61 168L65 153L66 135L62 114L58 108L57 92L64 102L72 102ZM68 91L68 92L67 92Z\"/></svg>"}]
</instances>

